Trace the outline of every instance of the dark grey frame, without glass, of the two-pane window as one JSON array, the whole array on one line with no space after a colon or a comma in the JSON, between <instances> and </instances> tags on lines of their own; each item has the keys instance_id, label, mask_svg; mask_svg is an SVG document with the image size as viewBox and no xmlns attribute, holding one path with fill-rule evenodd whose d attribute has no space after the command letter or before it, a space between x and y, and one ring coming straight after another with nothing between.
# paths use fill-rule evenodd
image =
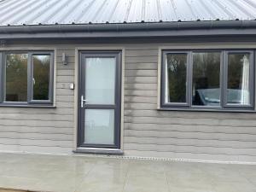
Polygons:
<instances>
[{"instance_id":1,"label":"dark grey frame, without glass, of the two-pane window","mask_svg":"<svg viewBox=\"0 0 256 192\"><path fill-rule=\"evenodd\" d=\"M26 102L6 102L6 55L7 54L27 54L27 99ZM49 67L49 100L32 100L33 92L33 68L32 55L50 55ZM54 102L54 51L53 50L6 50L0 51L0 107L52 107Z\"/></svg>"}]
</instances>

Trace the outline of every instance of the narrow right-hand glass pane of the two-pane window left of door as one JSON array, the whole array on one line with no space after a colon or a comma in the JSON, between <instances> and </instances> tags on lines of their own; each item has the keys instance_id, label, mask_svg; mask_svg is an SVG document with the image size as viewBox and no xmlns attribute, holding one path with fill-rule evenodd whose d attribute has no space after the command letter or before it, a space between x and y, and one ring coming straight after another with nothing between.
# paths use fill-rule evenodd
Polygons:
<instances>
[{"instance_id":1,"label":"narrow right-hand glass pane of the two-pane window left of door","mask_svg":"<svg viewBox=\"0 0 256 192\"><path fill-rule=\"evenodd\" d=\"M49 100L50 55L33 55L33 100Z\"/></svg>"}]
</instances>

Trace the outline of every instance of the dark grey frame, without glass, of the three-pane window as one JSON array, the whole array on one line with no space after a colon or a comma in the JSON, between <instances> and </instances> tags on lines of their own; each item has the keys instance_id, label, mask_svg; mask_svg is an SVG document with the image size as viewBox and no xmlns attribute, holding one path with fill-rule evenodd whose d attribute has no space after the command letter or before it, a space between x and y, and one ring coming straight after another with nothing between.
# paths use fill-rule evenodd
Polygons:
<instances>
[{"instance_id":1,"label":"dark grey frame, without glass, of the three-pane window","mask_svg":"<svg viewBox=\"0 0 256 192\"><path fill-rule=\"evenodd\" d=\"M193 80L193 53L219 52L220 53L220 106L195 106L192 104L192 80ZM187 103L165 102L166 96L166 54L188 54L187 67ZM227 69L229 53L250 54L250 106L229 105L227 96ZM231 111L231 112L255 112L255 50L254 49L162 49L160 63L160 110L189 110L189 111Z\"/></svg>"}]
</instances>

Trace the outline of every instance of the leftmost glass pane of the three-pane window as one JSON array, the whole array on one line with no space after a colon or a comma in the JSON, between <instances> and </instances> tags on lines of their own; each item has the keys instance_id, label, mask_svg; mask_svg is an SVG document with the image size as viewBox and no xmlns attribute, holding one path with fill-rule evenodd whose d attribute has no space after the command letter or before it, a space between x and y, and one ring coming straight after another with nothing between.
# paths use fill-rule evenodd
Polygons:
<instances>
[{"instance_id":1,"label":"leftmost glass pane of the three-pane window","mask_svg":"<svg viewBox=\"0 0 256 192\"><path fill-rule=\"evenodd\" d=\"M187 102L187 54L166 55L166 102Z\"/></svg>"}]
</instances>

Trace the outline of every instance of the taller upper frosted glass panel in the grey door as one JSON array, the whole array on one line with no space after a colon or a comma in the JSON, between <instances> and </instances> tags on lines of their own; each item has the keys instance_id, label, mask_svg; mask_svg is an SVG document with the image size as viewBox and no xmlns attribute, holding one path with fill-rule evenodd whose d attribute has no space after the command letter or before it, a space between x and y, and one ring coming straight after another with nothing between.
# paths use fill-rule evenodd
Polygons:
<instances>
[{"instance_id":1,"label":"taller upper frosted glass panel in the grey door","mask_svg":"<svg viewBox=\"0 0 256 192\"><path fill-rule=\"evenodd\" d=\"M86 104L114 104L115 58L85 59Z\"/></svg>"}]
</instances>

